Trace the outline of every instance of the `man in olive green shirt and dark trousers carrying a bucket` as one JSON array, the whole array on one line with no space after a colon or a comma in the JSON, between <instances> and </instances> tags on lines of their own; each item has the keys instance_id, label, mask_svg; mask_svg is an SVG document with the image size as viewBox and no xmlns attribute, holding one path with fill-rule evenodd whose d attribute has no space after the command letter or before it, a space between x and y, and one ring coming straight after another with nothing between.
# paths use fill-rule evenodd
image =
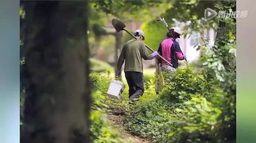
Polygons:
<instances>
[{"instance_id":1,"label":"man in olive green shirt and dark trousers carrying a bucket","mask_svg":"<svg viewBox=\"0 0 256 143\"><path fill-rule=\"evenodd\" d=\"M122 52L117 62L116 75L120 77L121 67L125 61L124 73L129 85L129 98L133 102L139 100L139 97L144 93L142 58L151 60L154 56L158 55L158 52L148 54L145 43L142 42L142 40L145 40L142 30L136 30L134 35L137 38L136 40L129 40L123 45Z\"/></svg>"}]
</instances>

